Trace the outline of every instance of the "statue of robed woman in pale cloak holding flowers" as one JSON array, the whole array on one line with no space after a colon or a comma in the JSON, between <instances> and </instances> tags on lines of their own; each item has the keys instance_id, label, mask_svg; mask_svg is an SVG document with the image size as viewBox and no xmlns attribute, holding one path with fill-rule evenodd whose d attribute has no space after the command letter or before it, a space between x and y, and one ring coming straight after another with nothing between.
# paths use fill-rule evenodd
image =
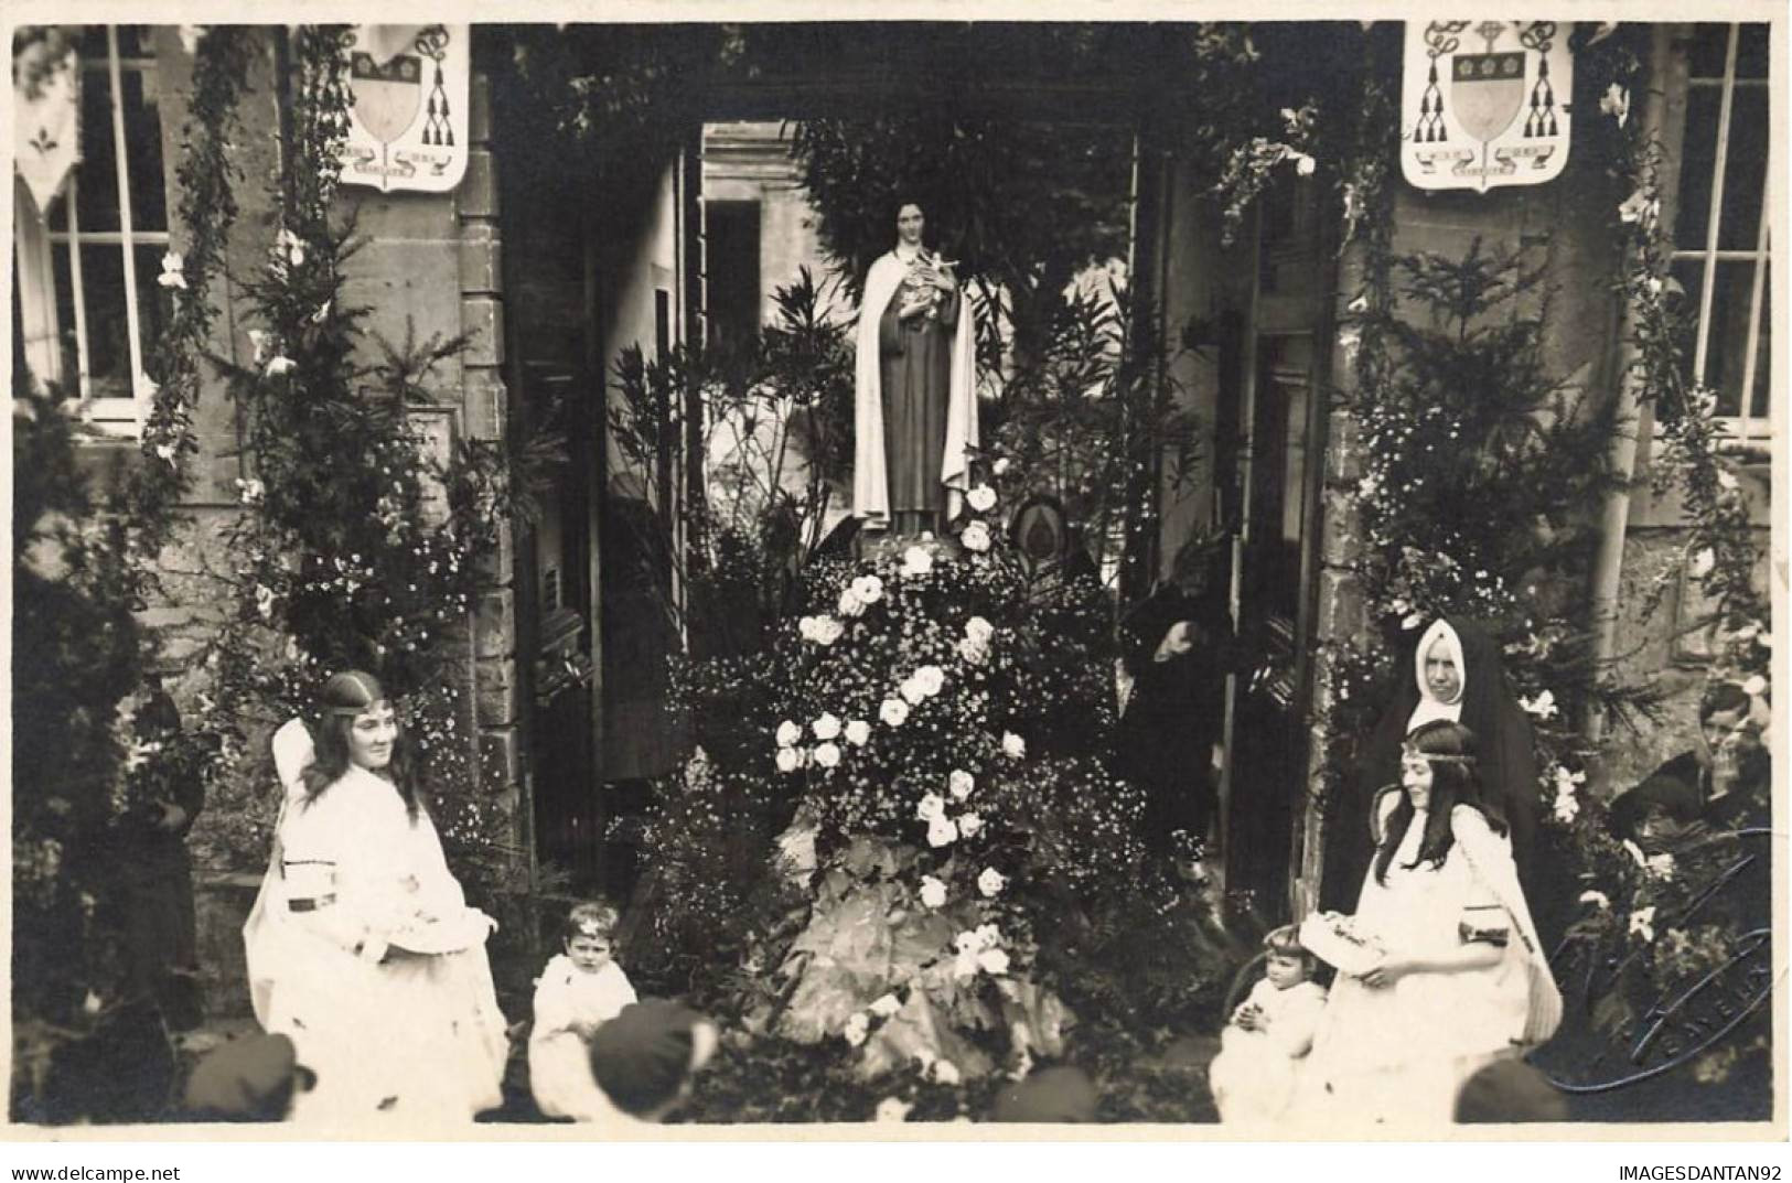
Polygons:
<instances>
[{"instance_id":1,"label":"statue of robed woman in pale cloak holding flowers","mask_svg":"<svg viewBox=\"0 0 1792 1183\"><path fill-rule=\"evenodd\" d=\"M977 326L953 263L921 246L921 206L871 263L858 310L853 514L898 534L939 531L969 488Z\"/></svg>"}]
</instances>

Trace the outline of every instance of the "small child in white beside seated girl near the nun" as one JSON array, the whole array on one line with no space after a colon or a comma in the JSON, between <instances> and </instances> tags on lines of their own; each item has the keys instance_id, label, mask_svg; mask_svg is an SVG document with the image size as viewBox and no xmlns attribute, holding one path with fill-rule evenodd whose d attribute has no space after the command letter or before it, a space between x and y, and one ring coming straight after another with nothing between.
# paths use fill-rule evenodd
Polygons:
<instances>
[{"instance_id":1,"label":"small child in white beside seated girl near the nun","mask_svg":"<svg viewBox=\"0 0 1792 1183\"><path fill-rule=\"evenodd\" d=\"M1314 955L1292 925L1263 937L1263 980L1233 1011L1208 1066L1213 1102L1229 1124L1271 1122L1288 1108L1294 1065L1314 1047L1326 1006L1324 986L1312 980Z\"/></svg>"}]
</instances>

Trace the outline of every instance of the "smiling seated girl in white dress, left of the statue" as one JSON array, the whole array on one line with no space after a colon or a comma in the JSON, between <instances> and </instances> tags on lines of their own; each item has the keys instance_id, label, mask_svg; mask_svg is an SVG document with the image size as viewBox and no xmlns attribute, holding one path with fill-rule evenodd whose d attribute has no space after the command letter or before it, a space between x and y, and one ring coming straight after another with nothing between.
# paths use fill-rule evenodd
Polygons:
<instances>
[{"instance_id":1,"label":"smiling seated girl in white dress, left of the statue","mask_svg":"<svg viewBox=\"0 0 1792 1183\"><path fill-rule=\"evenodd\" d=\"M509 1050L495 925L448 869L380 685L335 674L323 708L272 742L287 798L244 925L256 1020L317 1075L294 1120L470 1120L502 1102Z\"/></svg>"}]
</instances>

